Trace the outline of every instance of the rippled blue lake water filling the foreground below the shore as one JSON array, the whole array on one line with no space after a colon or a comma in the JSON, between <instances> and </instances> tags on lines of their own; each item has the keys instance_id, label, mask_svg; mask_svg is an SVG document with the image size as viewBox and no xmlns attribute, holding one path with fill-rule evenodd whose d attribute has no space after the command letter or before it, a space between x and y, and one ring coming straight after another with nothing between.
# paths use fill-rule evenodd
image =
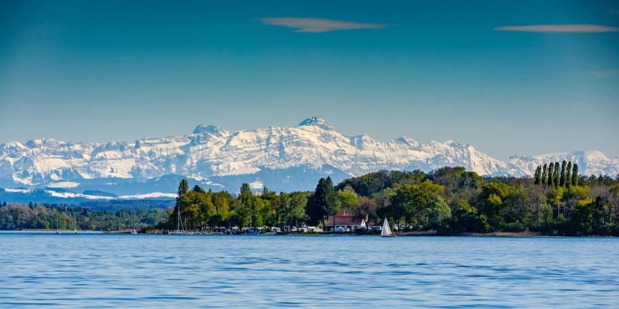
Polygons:
<instances>
[{"instance_id":1,"label":"rippled blue lake water filling the foreground below the shore","mask_svg":"<svg viewBox=\"0 0 619 309\"><path fill-rule=\"evenodd\" d=\"M0 233L3 308L619 308L619 239Z\"/></svg>"}]
</instances>

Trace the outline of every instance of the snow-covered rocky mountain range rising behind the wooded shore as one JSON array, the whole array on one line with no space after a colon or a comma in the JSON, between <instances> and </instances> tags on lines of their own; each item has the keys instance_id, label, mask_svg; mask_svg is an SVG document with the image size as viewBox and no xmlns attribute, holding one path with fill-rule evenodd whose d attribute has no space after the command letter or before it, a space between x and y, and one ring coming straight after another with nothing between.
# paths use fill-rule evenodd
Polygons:
<instances>
[{"instance_id":1,"label":"snow-covered rocky mountain range rising behind the wooded shore","mask_svg":"<svg viewBox=\"0 0 619 309\"><path fill-rule=\"evenodd\" d=\"M493 159L455 141L422 144L410 137L382 142L367 135L348 136L318 117L298 126L228 131L199 125L193 133L143 138L134 143L74 143L34 139L0 145L0 187L65 187L113 194L175 192L188 177L215 190L236 190L242 182L256 189L310 190L318 178L334 181L382 169L433 170L464 166L481 175L530 175L549 161L577 162L582 174L617 174L619 157L577 151ZM170 185L170 187L163 187Z\"/></svg>"}]
</instances>

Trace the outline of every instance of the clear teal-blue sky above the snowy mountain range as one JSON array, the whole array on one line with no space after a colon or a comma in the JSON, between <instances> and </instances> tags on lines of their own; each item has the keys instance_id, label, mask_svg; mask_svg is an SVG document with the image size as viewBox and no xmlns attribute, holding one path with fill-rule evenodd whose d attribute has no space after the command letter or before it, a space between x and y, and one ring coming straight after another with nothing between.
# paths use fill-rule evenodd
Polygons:
<instances>
[{"instance_id":1,"label":"clear teal-blue sky above the snowy mountain range","mask_svg":"<svg viewBox=\"0 0 619 309\"><path fill-rule=\"evenodd\" d=\"M619 2L464 2L1 1L0 143L318 115L497 159L619 155Z\"/></svg>"}]
</instances>

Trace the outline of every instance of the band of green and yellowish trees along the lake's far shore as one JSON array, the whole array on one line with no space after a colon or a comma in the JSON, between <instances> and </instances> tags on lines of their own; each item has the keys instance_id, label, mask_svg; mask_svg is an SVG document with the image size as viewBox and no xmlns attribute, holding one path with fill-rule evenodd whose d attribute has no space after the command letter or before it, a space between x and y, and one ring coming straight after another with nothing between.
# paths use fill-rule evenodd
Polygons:
<instances>
[{"instance_id":1,"label":"band of green and yellowish trees along the lake's far shore","mask_svg":"<svg viewBox=\"0 0 619 309\"><path fill-rule=\"evenodd\" d=\"M181 181L176 205L167 210L98 213L79 208L78 213L91 211L89 216L82 215L88 220L81 221L79 214L65 214L58 207L46 212L41 205L10 204L1 207L0 229L53 229L49 218L66 216L61 222L70 223L72 219L67 218L72 215L83 222L79 227L104 230L128 226L127 220L143 228L182 226L191 231L235 226L325 227L328 216L346 211L374 225L387 217L400 231L437 231L439 235L534 231L545 236L619 236L618 205L618 177L579 175L578 165L563 161L541 165L533 177L520 178L481 177L450 167L429 173L379 171L337 185L327 177L311 192L276 193L266 187L252 192L245 183L231 194L189 188ZM21 211L19 222L16 211ZM46 219L39 220L39 216Z\"/></svg>"}]
</instances>

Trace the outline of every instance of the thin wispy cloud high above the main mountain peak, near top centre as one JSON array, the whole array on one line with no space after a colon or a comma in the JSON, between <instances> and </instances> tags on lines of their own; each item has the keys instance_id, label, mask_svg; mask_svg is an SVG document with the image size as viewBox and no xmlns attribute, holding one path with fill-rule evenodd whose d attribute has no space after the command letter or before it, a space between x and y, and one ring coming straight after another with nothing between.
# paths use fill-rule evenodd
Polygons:
<instances>
[{"instance_id":1,"label":"thin wispy cloud high above the main mountain peak, near top centre","mask_svg":"<svg viewBox=\"0 0 619 309\"><path fill-rule=\"evenodd\" d=\"M259 20L266 25L294 28L296 29L294 32L383 29L387 26L380 23L355 23L354 21L336 21L334 19L316 19L308 17L270 17Z\"/></svg>"}]
</instances>

